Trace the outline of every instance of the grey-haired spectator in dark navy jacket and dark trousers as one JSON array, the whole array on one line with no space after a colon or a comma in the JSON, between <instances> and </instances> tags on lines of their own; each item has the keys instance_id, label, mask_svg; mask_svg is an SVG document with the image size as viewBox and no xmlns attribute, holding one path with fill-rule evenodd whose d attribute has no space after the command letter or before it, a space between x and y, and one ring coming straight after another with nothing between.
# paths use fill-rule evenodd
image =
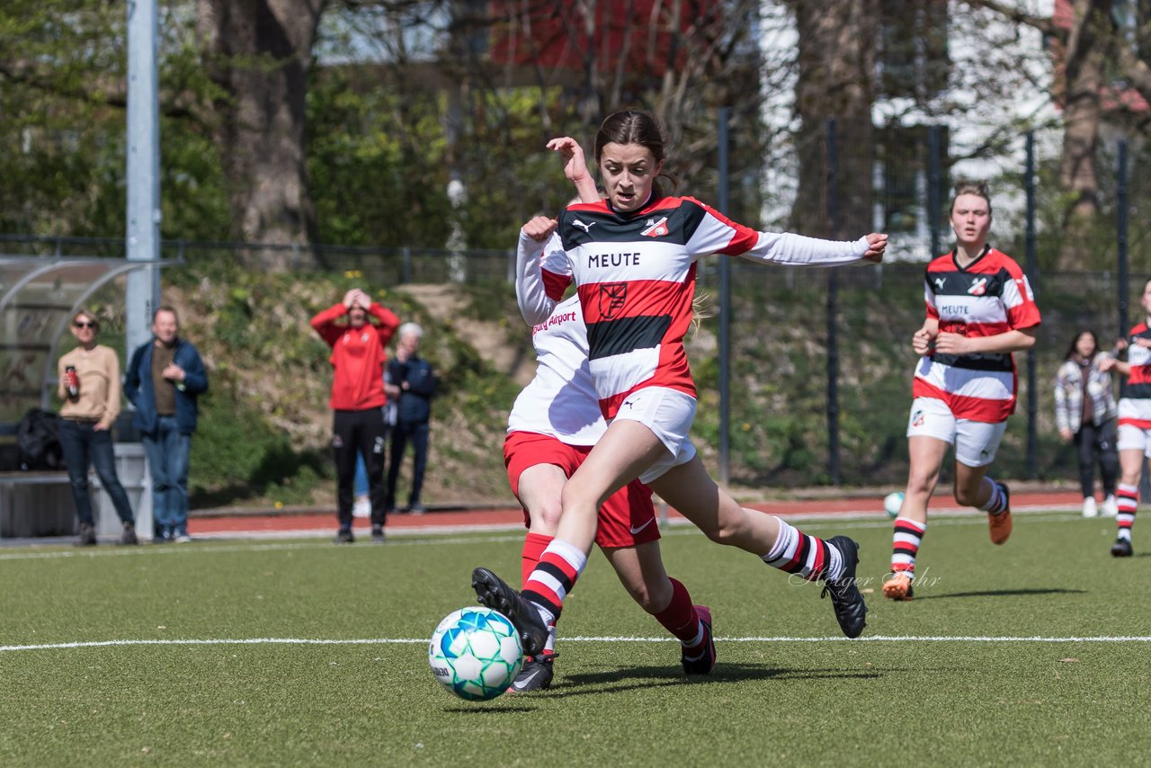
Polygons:
<instances>
[{"instance_id":1,"label":"grey-haired spectator in dark navy jacket and dark trousers","mask_svg":"<svg viewBox=\"0 0 1151 768\"><path fill-rule=\"evenodd\" d=\"M404 448L412 443L412 489L407 496L404 511L422 515L426 510L420 503L420 491L424 488L424 467L428 458L428 419L432 417L432 396L435 395L436 380L432 365L419 355L420 339L424 329L414 322L405 322L399 327L399 343L396 345L396 357L388 364L384 377L384 389L388 396L397 400L396 425L391 428L391 464L388 466L388 509L396 505L396 480L399 478L399 464L404 461Z\"/></svg>"}]
</instances>

